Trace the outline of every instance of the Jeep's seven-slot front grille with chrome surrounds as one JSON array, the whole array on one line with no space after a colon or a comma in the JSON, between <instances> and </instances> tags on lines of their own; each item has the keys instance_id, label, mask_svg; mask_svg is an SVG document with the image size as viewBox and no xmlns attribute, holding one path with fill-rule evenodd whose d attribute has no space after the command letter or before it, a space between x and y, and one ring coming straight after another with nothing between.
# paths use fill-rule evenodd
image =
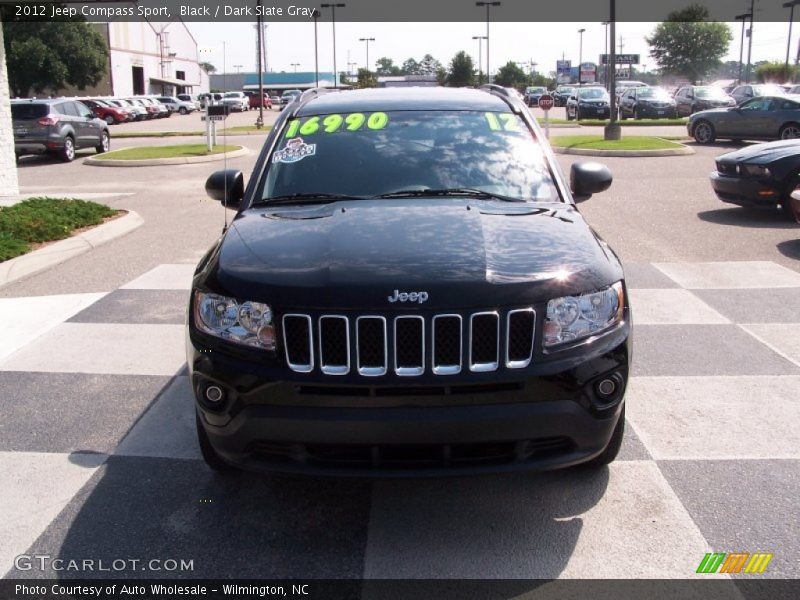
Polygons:
<instances>
[{"instance_id":1,"label":"Jeep's seven-slot front grille with chrome surrounds","mask_svg":"<svg viewBox=\"0 0 800 600\"><path fill-rule=\"evenodd\" d=\"M286 314L286 363L297 373L364 377L391 370L400 377L425 372L455 375L522 369L533 360L533 308L432 316ZM465 364L466 363L466 364Z\"/></svg>"}]
</instances>

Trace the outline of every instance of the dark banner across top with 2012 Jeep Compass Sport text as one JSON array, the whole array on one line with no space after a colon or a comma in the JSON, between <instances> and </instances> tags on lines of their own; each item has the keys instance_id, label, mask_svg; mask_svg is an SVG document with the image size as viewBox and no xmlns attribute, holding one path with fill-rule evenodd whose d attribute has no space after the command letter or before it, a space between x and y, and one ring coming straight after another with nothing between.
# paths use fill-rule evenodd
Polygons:
<instances>
[{"instance_id":1,"label":"dark banner across top with 2012 Jeep Compass Sport text","mask_svg":"<svg viewBox=\"0 0 800 600\"><path fill-rule=\"evenodd\" d=\"M183 21L266 22L312 21L335 18L341 22L485 22L487 12L494 22L603 22L616 4L618 22L663 21L675 10L690 4L708 9L712 21L734 22L747 12L737 0L345 0L321 3L310 0L0 0L4 20L63 20L83 17L87 21ZM327 6L324 6L327 4ZM480 4L480 6L478 5ZM487 11L487 4L490 4ZM782 0L759 0L755 20L785 22L789 11ZM319 11L319 12L315 12Z\"/></svg>"}]
</instances>

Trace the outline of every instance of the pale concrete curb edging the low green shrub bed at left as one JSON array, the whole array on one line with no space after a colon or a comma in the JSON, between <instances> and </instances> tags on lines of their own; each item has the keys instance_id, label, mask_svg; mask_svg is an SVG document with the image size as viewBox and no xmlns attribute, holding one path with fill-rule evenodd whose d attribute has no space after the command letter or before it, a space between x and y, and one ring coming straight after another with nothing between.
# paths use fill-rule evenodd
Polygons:
<instances>
[{"instance_id":1,"label":"pale concrete curb edging the low green shrub bed at left","mask_svg":"<svg viewBox=\"0 0 800 600\"><path fill-rule=\"evenodd\" d=\"M130 233L143 224L144 219L138 213L129 210L125 216L2 262L0 263L0 287L54 267L74 256L84 254L97 246Z\"/></svg>"}]
</instances>

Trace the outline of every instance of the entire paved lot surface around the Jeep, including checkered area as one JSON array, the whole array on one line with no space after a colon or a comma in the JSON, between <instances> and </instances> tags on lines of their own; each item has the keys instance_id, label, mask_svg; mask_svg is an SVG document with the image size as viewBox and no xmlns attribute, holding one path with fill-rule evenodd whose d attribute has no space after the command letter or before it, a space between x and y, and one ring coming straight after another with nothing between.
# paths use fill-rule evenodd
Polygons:
<instances>
[{"instance_id":1,"label":"entire paved lot surface around the Jeep, including checkered area","mask_svg":"<svg viewBox=\"0 0 800 600\"><path fill-rule=\"evenodd\" d=\"M113 139L156 125L201 128L196 114L116 126L113 147L201 139ZM623 134L633 129L654 133ZM228 167L249 174L263 138L229 140L251 152ZM49 554L194 561L114 573L131 577L687 578L714 550L772 552L765 576L796 577L800 226L722 204L708 173L733 146L693 147L602 159L614 184L580 205L625 265L636 322L618 461L374 482L227 479L200 460L182 322L193 267L225 220L203 190L223 163L23 159L26 194L97 199L145 224L0 288L14 332L0 343L0 571L52 577L14 565ZM559 156L566 172L575 160Z\"/></svg>"}]
</instances>

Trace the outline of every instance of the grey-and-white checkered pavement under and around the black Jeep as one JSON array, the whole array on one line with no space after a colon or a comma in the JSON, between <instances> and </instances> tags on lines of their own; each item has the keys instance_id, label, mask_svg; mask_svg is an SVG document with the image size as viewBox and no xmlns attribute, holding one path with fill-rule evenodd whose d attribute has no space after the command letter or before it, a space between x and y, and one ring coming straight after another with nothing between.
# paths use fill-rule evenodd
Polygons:
<instances>
[{"instance_id":1,"label":"grey-and-white checkered pavement under and around the black Jeep","mask_svg":"<svg viewBox=\"0 0 800 600\"><path fill-rule=\"evenodd\" d=\"M54 576L20 554L193 560L114 573L134 577L687 578L712 550L800 572L800 273L626 265L634 367L608 469L342 481L206 468L185 370L193 268L0 299L6 577Z\"/></svg>"}]
</instances>

